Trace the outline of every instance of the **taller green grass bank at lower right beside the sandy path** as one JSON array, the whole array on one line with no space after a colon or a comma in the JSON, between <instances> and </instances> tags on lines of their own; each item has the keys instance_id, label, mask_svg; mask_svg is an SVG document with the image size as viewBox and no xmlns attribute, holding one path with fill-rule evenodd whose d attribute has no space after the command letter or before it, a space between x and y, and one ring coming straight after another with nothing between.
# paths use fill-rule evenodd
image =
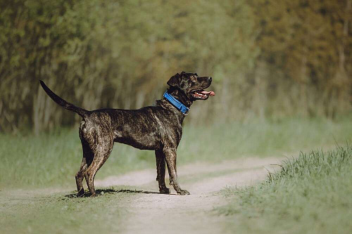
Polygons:
<instances>
[{"instance_id":1,"label":"taller green grass bank at lower right beside the sandy path","mask_svg":"<svg viewBox=\"0 0 352 234\"><path fill-rule=\"evenodd\" d=\"M239 233L351 233L352 145L287 160L268 180L227 188L229 230Z\"/></svg>"}]
</instances>

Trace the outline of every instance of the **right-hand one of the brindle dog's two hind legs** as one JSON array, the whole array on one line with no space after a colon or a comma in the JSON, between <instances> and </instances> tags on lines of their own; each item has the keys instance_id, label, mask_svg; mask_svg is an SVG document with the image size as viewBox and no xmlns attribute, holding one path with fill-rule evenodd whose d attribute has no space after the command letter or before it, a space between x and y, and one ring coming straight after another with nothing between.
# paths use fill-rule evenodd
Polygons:
<instances>
[{"instance_id":1,"label":"right-hand one of the brindle dog's two hind legs","mask_svg":"<svg viewBox=\"0 0 352 234\"><path fill-rule=\"evenodd\" d=\"M106 134L96 138L96 145L94 145L94 159L92 164L90 164L88 169L84 172L84 178L87 181L87 186L93 197L96 195L94 188L94 176L96 175L96 171L98 171L101 166L103 166L112 150L113 136Z\"/></svg>"}]
</instances>

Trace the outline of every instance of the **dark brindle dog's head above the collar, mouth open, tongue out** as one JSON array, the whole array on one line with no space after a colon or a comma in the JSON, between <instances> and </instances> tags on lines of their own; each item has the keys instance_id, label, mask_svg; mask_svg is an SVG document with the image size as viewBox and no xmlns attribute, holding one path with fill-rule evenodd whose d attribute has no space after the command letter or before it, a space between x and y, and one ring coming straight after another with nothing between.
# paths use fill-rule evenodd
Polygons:
<instances>
[{"instance_id":1,"label":"dark brindle dog's head above the collar, mouth open, tongue out","mask_svg":"<svg viewBox=\"0 0 352 234\"><path fill-rule=\"evenodd\" d=\"M206 100L209 96L214 96L213 91L205 91L211 84L211 77L199 77L196 73L181 72L171 77L168 85L172 90L180 91L191 102L194 100Z\"/></svg>"}]
</instances>

